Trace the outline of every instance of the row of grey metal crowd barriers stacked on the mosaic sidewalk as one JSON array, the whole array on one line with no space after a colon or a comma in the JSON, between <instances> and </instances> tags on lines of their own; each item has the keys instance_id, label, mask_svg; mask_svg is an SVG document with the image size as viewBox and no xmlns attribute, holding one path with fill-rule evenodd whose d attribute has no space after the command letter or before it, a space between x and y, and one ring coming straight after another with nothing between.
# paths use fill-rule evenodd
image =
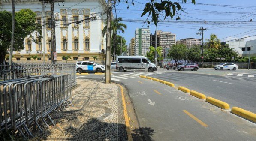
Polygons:
<instances>
[{"instance_id":1,"label":"row of grey metal crowd barriers stacked on the mosaic sidewalk","mask_svg":"<svg viewBox=\"0 0 256 141\"><path fill-rule=\"evenodd\" d=\"M23 131L32 136L29 127L34 123L42 132L38 121L49 128L45 118L56 108L72 105L71 75L35 75L0 82L0 131ZM72 105L73 106L73 105Z\"/></svg>"}]
</instances>

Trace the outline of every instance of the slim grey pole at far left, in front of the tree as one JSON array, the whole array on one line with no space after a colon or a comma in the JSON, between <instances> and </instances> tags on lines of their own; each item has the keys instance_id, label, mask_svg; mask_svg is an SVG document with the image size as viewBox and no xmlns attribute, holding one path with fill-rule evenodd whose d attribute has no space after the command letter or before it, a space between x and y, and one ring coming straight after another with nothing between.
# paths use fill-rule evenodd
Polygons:
<instances>
[{"instance_id":1,"label":"slim grey pole at far left, in front of the tree","mask_svg":"<svg viewBox=\"0 0 256 141\"><path fill-rule=\"evenodd\" d=\"M12 51L14 46L14 30L15 30L15 2L12 0L12 38L11 38L11 47L8 63L12 64Z\"/></svg>"}]
</instances>

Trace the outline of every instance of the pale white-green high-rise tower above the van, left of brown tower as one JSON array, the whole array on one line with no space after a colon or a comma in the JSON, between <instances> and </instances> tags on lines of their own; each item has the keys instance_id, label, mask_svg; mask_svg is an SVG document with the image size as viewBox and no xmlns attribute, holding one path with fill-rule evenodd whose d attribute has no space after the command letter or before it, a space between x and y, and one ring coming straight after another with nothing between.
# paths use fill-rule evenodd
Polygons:
<instances>
[{"instance_id":1,"label":"pale white-green high-rise tower above the van, left of brown tower","mask_svg":"<svg viewBox=\"0 0 256 141\"><path fill-rule=\"evenodd\" d=\"M150 29L137 28L135 30L134 55L145 56L150 47Z\"/></svg>"}]
</instances>

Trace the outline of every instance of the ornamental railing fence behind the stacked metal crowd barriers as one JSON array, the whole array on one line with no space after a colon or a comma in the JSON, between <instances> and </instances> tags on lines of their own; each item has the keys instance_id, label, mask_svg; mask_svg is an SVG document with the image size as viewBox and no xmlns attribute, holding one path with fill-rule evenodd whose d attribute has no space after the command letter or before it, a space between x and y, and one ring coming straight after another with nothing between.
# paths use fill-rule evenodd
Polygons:
<instances>
[{"instance_id":1,"label":"ornamental railing fence behind the stacked metal crowd barriers","mask_svg":"<svg viewBox=\"0 0 256 141\"><path fill-rule=\"evenodd\" d=\"M71 86L76 85L75 63L12 63L12 65L0 64L0 81L43 74L70 74Z\"/></svg>"}]
</instances>

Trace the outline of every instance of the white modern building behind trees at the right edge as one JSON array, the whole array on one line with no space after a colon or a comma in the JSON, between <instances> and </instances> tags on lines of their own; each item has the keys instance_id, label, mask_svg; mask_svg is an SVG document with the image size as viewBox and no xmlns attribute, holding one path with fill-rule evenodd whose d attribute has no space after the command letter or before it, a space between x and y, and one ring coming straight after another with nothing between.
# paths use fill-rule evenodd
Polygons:
<instances>
[{"instance_id":1,"label":"white modern building behind trees at the right edge","mask_svg":"<svg viewBox=\"0 0 256 141\"><path fill-rule=\"evenodd\" d=\"M244 39L237 39L235 41L222 42L222 45L229 44L230 48L234 48L238 52L239 57L256 56L256 39L245 41Z\"/></svg>"}]
</instances>

